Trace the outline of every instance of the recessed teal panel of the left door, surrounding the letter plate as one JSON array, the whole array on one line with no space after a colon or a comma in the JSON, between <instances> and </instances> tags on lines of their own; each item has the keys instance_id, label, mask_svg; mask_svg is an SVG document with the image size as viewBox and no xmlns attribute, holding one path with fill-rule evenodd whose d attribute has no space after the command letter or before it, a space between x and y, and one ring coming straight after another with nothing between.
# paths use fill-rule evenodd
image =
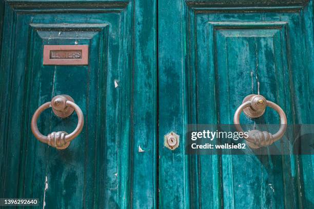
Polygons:
<instances>
[{"instance_id":1,"label":"recessed teal panel of the left door, surrounding the letter plate","mask_svg":"<svg viewBox=\"0 0 314 209\"><path fill-rule=\"evenodd\" d=\"M127 5L121 7L123 10ZM7 9L11 10L10 6ZM125 31L120 29L121 25L125 25L125 30L128 30L130 25L127 19L121 20L122 13L89 14L88 22L86 14L80 13L8 13L15 19L11 29L16 33L9 37L13 46L4 68L11 69L10 91L15 97L10 106L10 118L16 121L8 120L7 131L19 131L14 136L8 135L7 157L15 158L14 162L22 158L22 162L6 165L6 196L14 197L16 193L19 196L36 196L47 203L60 199L55 202L58 207L92 207L95 200L96 204L104 206L121 204L119 193L125 192L126 184L119 191L117 185L127 177L119 171L121 166L128 164L123 157L128 153L124 149L128 146L121 144L128 144L128 140L119 133L125 125L121 124L121 119L128 117L130 110L129 105L121 105L121 90L128 92L127 98L131 96L127 88L131 78L129 57L128 53L122 54L131 43L123 37ZM76 21L64 24L69 19ZM4 42L9 43L9 40ZM45 45L88 45L89 65L43 65ZM119 88L114 87L114 80L120 80ZM86 120L80 136L64 151L34 140L29 131L30 118L36 108L60 94L70 95L83 110ZM125 112L123 116L119 114L122 110ZM75 114L61 120L51 111L45 111L38 126L45 135L58 130L70 133L75 129L76 121ZM23 173L16 172L21 169ZM21 181L16 188L14 182L17 179L14 176ZM41 184L38 184L38 179L41 179ZM49 188L44 193L43 179ZM108 197L111 197L109 201Z\"/></svg>"}]
</instances>

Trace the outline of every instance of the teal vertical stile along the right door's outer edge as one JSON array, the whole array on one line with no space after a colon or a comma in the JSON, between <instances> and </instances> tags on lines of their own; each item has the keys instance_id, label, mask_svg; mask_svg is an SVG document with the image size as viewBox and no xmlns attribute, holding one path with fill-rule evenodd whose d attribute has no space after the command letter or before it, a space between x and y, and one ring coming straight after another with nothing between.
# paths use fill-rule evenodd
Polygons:
<instances>
[{"instance_id":1,"label":"teal vertical stile along the right door's outer edge","mask_svg":"<svg viewBox=\"0 0 314 209\"><path fill-rule=\"evenodd\" d=\"M295 79L299 77L299 81L303 80L308 85L301 85L301 83L296 83L298 86L298 100L302 105L296 106L296 112L298 113L298 117L296 117L296 121L298 123L314 123L314 40L313 40L313 1L310 1L308 6L304 8L303 16L304 16L304 26L302 28L303 33L305 35L303 46L306 49L306 52L303 52L302 56L305 57L306 62L304 63L304 71L295 74ZM306 92L304 94L303 92ZM297 93L297 92L296 92ZM308 93L308 94L307 94ZM308 96L306 96L308 95ZM303 103L305 102L305 103ZM308 114L306 114L308 111ZM301 155L296 156L297 161L297 169L298 174L300 176L300 199L302 201L302 206L304 208L312 208L314 207L314 156L313 155Z\"/></svg>"}]
</instances>

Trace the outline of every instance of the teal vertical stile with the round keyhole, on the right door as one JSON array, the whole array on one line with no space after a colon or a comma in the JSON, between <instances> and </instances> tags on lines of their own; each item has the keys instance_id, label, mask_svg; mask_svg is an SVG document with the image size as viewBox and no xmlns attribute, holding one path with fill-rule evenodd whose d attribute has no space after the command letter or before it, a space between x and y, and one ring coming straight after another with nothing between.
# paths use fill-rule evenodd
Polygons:
<instances>
[{"instance_id":1,"label":"teal vertical stile with the round keyhole, on the right door","mask_svg":"<svg viewBox=\"0 0 314 209\"><path fill-rule=\"evenodd\" d=\"M189 207L188 156L184 154L186 124L184 1L158 1L159 40L159 207ZM181 24L183 23L183 24ZM171 151L164 135L180 135L180 146Z\"/></svg>"}]
</instances>

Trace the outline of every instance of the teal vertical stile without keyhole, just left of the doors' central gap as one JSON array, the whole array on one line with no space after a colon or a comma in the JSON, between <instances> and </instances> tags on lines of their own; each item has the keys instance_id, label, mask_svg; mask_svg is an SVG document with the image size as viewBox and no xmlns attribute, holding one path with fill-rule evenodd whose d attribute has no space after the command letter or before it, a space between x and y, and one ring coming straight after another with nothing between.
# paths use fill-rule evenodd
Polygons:
<instances>
[{"instance_id":1,"label":"teal vertical stile without keyhole, just left of the doors' central gap","mask_svg":"<svg viewBox=\"0 0 314 209\"><path fill-rule=\"evenodd\" d=\"M134 1L132 208L158 207L156 6Z\"/></svg>"}]
</instances>

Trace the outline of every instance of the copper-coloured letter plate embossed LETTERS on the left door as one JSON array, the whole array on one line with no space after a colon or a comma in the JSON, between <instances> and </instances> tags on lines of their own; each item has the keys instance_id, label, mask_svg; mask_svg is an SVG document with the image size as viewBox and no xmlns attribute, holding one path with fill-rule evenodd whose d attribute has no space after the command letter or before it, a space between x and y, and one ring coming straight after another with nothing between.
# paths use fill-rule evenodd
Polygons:
<instances>
[{"instance_id":1,"label":"copper-coloured letter plate embossed LETTERS on the left door","mask_svg":"<svg viewBox=\"0 0 314 209\"><path fill-rule=\"evenodd\" d=\"M88 45L45 45L43 65L88 65Z\"/></svg>"}]
</instances>

